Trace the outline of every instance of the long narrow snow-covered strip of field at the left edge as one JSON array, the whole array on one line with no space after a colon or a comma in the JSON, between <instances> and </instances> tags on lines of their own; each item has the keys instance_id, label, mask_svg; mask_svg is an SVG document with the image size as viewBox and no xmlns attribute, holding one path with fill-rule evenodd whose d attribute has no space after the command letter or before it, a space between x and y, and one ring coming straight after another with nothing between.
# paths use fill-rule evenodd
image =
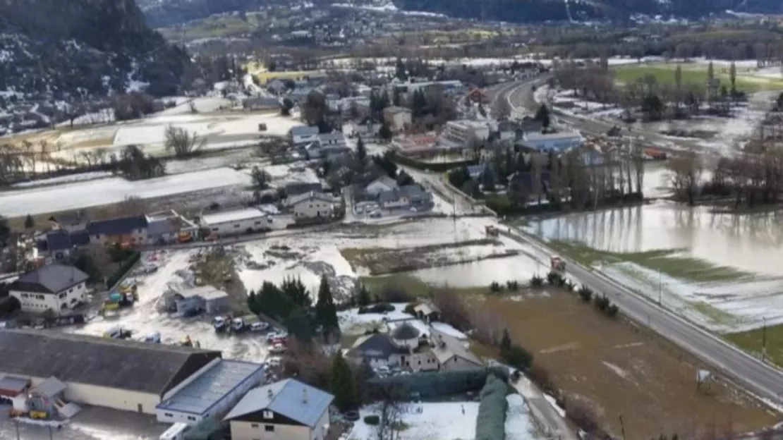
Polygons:
<instances>
[{"instance_id":1,"label":"long narrow snow-covered strip of field at the left edge","mask_svg":"<svg viewBox=\"0 0 783 440\"><path fill-rule=\"evenodd\" d=\"M67 211L113 204L132 196L149 199L203 189L246 186L250 182L251 178L247 171L215 168L138 182L112 177L48 188L20 189L0 193L0 215L16 217Z\"/></svg>"}]
</instances>

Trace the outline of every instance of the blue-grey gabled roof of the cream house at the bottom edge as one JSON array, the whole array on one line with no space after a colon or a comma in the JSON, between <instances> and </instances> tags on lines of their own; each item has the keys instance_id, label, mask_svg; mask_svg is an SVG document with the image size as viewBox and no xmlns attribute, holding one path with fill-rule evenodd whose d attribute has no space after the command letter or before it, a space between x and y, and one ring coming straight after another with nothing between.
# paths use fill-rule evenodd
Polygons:
<instances>
[{"instance_id":1,"label":"blue-grey gabled roof of the cream house at the bottom edge","mask_svg":"<svg viewBox=\"0 0 783 440\"><path fill-rule=\"evenodd\" d=\"M240 400L223 420L236 419L269 409L283 417L316 427L319 418L329 408L334 395L313 388L298 380L286 379L254 388Z\"/></svg>"}]
</instances>

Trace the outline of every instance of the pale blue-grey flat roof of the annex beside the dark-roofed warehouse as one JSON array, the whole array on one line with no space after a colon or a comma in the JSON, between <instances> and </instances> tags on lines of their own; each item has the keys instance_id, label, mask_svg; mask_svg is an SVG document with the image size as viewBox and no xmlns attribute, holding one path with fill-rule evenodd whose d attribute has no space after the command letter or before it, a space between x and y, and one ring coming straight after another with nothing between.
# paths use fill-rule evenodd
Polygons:
<instances>
[{"instance_id":1,"label":"pale blue-grey flat roof of the annex beside the dark-roofed warehouse","mask_svg":"<svg viewBox=\"0 0 783 440\"><path fill-rule=\"evenodd\" d=\"M260 363L224 359L156 408L180 413L207 413L223 397L263 369L264 365Z\"/></svg>"}]
</instances>

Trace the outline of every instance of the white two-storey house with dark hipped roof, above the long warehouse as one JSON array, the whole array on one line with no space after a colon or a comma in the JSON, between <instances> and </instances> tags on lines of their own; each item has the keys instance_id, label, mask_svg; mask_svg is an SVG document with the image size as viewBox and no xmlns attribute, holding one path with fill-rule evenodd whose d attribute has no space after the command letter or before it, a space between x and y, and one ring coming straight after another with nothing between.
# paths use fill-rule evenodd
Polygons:
<instances>
[{"instance_id":1,"label":"white two-storey house with dark hipped roof, above the long warehouse","mask_svg":"<svg viewBox=\"0 0 783 440\"><path fill-rule=\"evenodd\" d=\"M45 265L20 276L9 290L19 300L23 312L51 310L56 316L69 315L74 307L86 301L88 278L73 266Z\"/></svg>"}]
</instances>

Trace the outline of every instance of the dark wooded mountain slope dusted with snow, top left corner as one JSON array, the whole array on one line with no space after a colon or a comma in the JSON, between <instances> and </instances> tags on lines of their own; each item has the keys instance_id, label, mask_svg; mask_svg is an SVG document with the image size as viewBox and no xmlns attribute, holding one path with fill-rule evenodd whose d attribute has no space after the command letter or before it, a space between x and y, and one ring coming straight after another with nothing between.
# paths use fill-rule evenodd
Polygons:
<instances>
[{"instance_id":1,"label":"dark wooded mountain slope dusted with snow, top left corner","mask_svg":"<svg viewBox=\"0 0 783 440\"><path fill-rule=\"evenodd\" d=\"M0 90L54 96L176 92L189 58L134 0L0 0Z\"/></svg>"}]
</instances>

